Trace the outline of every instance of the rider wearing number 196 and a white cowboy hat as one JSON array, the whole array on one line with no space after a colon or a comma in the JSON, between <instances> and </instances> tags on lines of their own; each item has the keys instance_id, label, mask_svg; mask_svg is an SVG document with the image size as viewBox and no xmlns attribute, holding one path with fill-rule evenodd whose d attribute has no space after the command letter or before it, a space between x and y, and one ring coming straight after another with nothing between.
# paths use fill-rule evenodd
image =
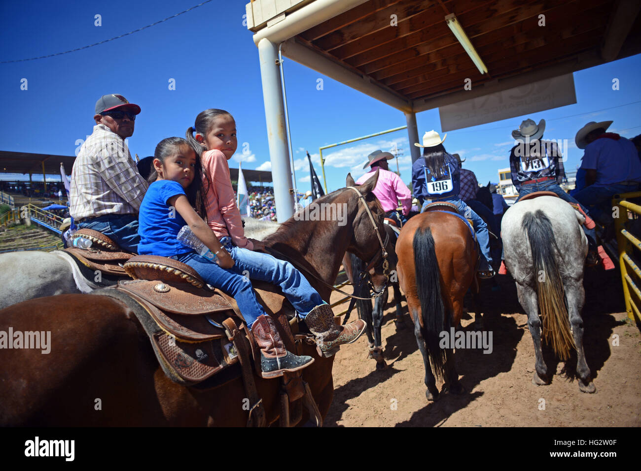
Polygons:
<instances>
[{"instance_id":1,"label":"rider wearing number 196 and a white cowboy hat","mask_svg":"<svg viewBox=\"0 0 641 471\"><path fill-rule=\"evenodd\" d=\"M485 222L458 196L460 168L456 157L445 151L445 138L447 134L441 139L438 132L429 131L423 136L423 145L414 144L423 148L423 157L412 164L414 196L422 204L422 209L437 201L453 203L461 216L472 220L482 254L478 267L479 276L492 278L495 273L490 255L490 233Z\"/></svg>"}]
</instances>

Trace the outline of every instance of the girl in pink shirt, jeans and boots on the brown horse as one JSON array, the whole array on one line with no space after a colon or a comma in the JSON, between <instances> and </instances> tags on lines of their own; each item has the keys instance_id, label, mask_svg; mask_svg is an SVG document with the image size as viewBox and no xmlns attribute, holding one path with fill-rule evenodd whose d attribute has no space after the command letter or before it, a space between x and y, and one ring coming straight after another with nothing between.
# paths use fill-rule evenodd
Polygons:
<instances>
[{"instance_id":1,"label":"girl in pink shirt, jeans and boots on the brown horse","mask_svg":"<svg viewBox=\"0 0 641 471\"><path fill-rule=\"evenodd\" d=\"M320 355L334 355L340 345L358 339L367 326L365 321L337 326L331 307L292 264L257 251L265 245L245 237L227 164L238 147L234 118L222 109L206 109L196 116L194 127L187 129L187 140L202 150L207 220L235 261L231 271L278 285L315 335Z\"/></svg>"}]
</instances>

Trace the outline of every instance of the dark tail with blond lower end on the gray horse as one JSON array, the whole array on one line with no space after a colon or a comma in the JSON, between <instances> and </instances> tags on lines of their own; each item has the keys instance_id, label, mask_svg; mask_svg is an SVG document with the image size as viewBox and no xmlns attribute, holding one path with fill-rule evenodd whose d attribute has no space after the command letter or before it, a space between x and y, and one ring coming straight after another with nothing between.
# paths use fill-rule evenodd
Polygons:
<instances>
[{"instance_id":1,"label":"dark tail with blond lower end on the gray horse","mask_svg":"<svg viewBox=\"0 0 641 471\"><path fill-rule=\"evenodd\" d=\"M565 304L565 291L554 250L560 253L552 223L540 209L528 212L521 226L528 235L537 287L538 313L543 321L543 337L551 342L554 353L562 360L570 355L574 338Z\"/></svg>"}]
</instances>

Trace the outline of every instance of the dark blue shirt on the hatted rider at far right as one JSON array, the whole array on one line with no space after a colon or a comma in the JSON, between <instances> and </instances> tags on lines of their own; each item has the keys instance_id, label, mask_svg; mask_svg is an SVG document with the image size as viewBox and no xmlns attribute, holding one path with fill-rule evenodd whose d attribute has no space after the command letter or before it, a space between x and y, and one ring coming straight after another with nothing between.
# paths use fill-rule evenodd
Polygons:
<instances>
[{"instance_id":1,"label":"dark blue shirt on the hatted rider at far right","mask_svg":"<svg viewBox=\"0 0 641 471\"><path fill-rule=\"evenodd\" d=\"M641 182L637 148L626 138L600 138L585 147L581 168L596 170L595 187L620 182Z\"/></svg>"}]
</instances>

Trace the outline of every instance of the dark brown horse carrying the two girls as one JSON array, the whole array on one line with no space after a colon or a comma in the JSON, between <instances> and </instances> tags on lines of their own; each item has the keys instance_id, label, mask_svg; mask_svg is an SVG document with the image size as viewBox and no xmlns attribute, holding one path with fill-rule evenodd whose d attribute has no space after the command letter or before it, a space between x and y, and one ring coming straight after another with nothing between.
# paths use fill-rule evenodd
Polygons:
<instances>
[{"instance_id":1,"label":"dark brown horse carrying the two girls","mask_svg":"<svg viewBox=\"0 0 641 471\"><path fill-rule=\"evenodd\" d=\"M382 230L383 209L371 190L374 175L358 193ZM303 268L329 301L346 250L365 260L379 257L376 232L357 192L340 189L318 204L345 204L345 224L331 220L286 221L265 239ZM379 257L382 261L382 257ZM380 263L372 273L381 273ZM372 282L384 276L372 276ZM258 286L259 283L254 283ZM261 285L267 288L267 285ZM382 285L378 285L381 289ZM257 290L268 314L292 310L274 287ZM50 331L50 353L0 349L0 426L244 426L246 392L237 377L208 389L185 387L165 376L137 317L116 299L96 294L61 294L31 299L0 310L0 332ZM322 358L301 342L299 355L315 362L304 369L320 414L333 397L333 357ZM231 367L233 368L233 367ZM219 373L219 375L224 372ZM229 378L227 378L229 379ZM222 379L221 379L222 381ZM254 375L267 423L278 420L279 383ZM304 424L307 414L304 411Z\"/></svg>"}]
</instances>

